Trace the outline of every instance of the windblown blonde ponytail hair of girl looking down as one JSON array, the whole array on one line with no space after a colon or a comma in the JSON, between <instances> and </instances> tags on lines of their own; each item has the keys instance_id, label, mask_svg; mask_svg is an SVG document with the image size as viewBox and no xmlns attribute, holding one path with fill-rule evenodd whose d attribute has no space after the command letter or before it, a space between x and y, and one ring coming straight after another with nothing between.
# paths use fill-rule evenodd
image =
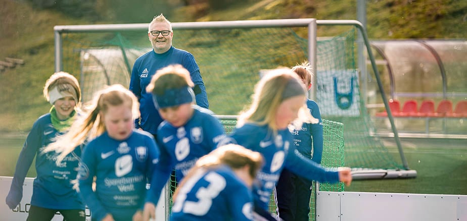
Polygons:
<instances>
[{"instance_id":1,"label":"windblown blonde ponytail hair of girl looking down","mask_svg":"<svg viewBox=\"0 0 467 221\"><path fill-rule=\"evenodd\" d=\"M106 114L109 106L125 104L131 108L133 118L139 117L139 103L134 94L120 84L114 84L97 92L92 100L89 111L80 116L70 130L43 150L44 152L56 151L59 154L57 164L77 146L83 144L86 139L91 140L106 131L101 115Z\"/></svg>"}]
</instances>

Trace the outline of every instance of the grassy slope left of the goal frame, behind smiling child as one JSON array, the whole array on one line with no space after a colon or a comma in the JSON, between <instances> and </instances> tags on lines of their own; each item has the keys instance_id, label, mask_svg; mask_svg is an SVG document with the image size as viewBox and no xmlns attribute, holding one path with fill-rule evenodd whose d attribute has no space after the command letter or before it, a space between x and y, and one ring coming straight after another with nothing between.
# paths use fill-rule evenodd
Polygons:
<instances>
[{"instance_id":1,"label":"grassy slope left of the goal frame, behind smiling child","mask_svg":"<svg viewBox=\"0 0 467 221\"><path fill-rule=\"evenodd\" d=\"M54 25L86 21L34 10L25 3L0 2L0 60L9 57L25 61L0 72L0 131L26 132L50 108L42 89L54 73Z\"/></svg>"}]
</instances>

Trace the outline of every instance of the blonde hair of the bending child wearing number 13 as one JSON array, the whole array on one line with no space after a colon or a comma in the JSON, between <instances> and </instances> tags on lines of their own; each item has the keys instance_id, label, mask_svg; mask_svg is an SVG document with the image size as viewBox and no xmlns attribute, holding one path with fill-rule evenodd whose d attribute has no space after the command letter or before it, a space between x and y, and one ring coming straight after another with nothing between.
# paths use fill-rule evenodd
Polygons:
<instances>
[{"instance_id":1,"label":"blonde hair of the bending child wearing number 13","mask_svg":"<svg viewBox=\"0 0 467 221\"><path fill-rule=\"evenodd\" d=\"M249 166L249 175L252 179L256 177L258 171L263 167L264 158L261 153L247 149L238 144L227 144L220 146L209 154L204 155L196 161L196 164L181 180L172 199L175 200L179 190L184 186L186 181L193 177L199 170L213 170L220 165L227 165L232 170L241 169L246 165Z\"/></svg>"}]
</instances>

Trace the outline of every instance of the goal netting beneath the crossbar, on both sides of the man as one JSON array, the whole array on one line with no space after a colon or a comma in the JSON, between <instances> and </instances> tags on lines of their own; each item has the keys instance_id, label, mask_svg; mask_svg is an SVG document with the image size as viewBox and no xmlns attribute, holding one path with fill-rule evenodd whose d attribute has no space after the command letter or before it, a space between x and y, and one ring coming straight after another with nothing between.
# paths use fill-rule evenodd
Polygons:
<instances>
[{"instance_id":1,"label":"goal netting beneath the crossbar, on both sides of the man","mask_svg":"<svg viewBox=\"0 0 467 221\"><path fill-rule=\"evenodd\" d=\"M290 28L175 30L173 45L195 56L210 109L236 115L249 103L260 70L306 59L299 40ZM104 85L128 86L134 60L152 49L145 32L67 33L63 45L63 70L80 74L83 102Z\"/></svg>"}]
</instances>

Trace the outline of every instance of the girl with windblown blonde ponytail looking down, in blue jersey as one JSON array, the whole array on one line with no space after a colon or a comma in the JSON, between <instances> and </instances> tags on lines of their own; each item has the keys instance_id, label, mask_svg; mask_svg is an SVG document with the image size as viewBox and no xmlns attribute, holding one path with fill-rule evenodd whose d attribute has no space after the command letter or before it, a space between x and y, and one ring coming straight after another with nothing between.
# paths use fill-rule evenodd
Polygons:
<instances>
[{"instance_id":1,"label":"girl with windblown blonde ponytail looking down, in blue jersey","mask_svg":"<svg viewBox=\"0 0 467 221\"><path fill-rule=\"evenodd\" d=\"M60 162L76 144L90 140L82 154L78 180L93 220L140 220L144 204L157 203L146 183L151 180L159 150L151 134L134 129L137 116L134 94L112 85L99 91L87 115L48 146L48 150L61 152Z\"/></svg>"}]
</instances>

